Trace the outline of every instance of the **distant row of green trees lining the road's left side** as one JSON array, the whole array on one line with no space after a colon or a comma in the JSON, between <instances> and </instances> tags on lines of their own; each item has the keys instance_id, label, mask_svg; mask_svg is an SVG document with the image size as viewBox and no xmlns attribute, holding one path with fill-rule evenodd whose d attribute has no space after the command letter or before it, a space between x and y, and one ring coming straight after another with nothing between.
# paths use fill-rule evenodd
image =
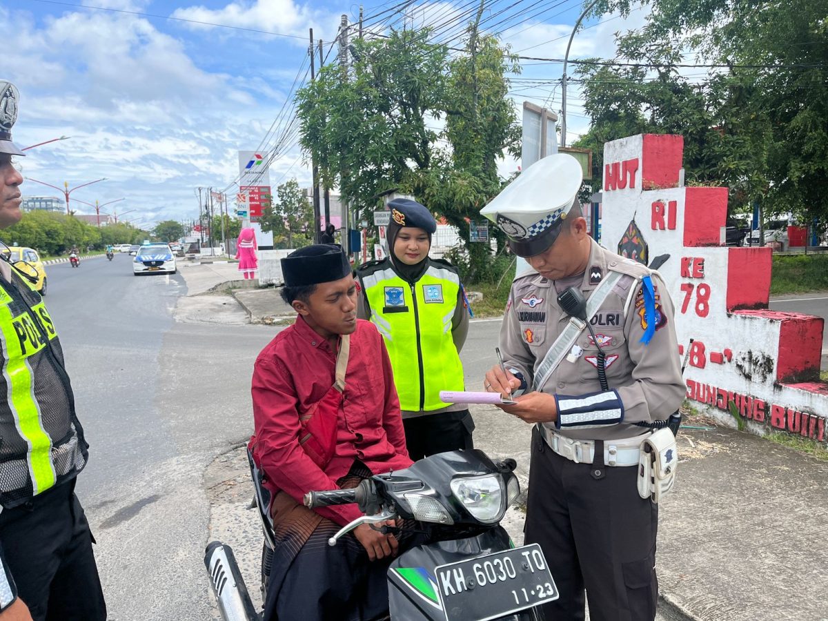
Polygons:
<instances>
[{"instance_id":1,"label":"distant row of green trees lining the road's left side","mask_svg":"<svg viewBox=\"0 0 828 621\"><path fill-rule=\"evenodd\" d=\"M35 248L46 255L65 253L75 244L78 248L100 249L108 243L134 243L145 237L145 231L129 224L112 224L98 229L71 215L40 209L26 212L20 222L2 232L6 243Z\"/></svg>"}]
</instances>

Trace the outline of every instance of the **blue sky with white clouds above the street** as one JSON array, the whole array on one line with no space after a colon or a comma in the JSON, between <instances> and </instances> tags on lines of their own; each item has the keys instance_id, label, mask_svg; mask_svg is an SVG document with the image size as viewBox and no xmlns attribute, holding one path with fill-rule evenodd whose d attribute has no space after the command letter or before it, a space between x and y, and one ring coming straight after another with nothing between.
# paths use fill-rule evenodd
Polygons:
<instances>
[{"instance_id":1,"label":"blue sky with white clouds above the street","mask_svg":"<svg viewBox=\"0 0 828 621\"><path fill-rule=\"evenodd\" d=\"M70 188L89 203L126 198L124 218L152 226L198 214L197 188L219 189L238 175L238 151L284 137L272 162L272 185L296 176L310 185L296 132L292 94L306 79L308 28L335 39L340 15L357 21L359 4L333 0L3 0L0 79L21 91L14 138L28 146L24 175ZM407 6L404 17L399 9ZM407 24L436 27L436 38L461 45L463 24L478 0L363 4L365 31ZM483 25L501 33L521 55L562 58L580 0L487 0ZM614 53L614 32L643 24L645 10L628 19L585 22L570 58ZM459 18L460 17L460 18ZM233 27L229 27L233 26ZM335 51L330 54L333 59ZM561 64L523 60L513 82L516 106L526 99L561 108ZM570 72L571 73L571 72ZM298 78L298 79L297 79ZM568 91L568 142L587 119L576 88ZM275 123L274 123L275 122ZM268 133L273 129L273 132ZM513 169L504 162L502 170ZM59 195L27 181L24 195ZM93 213L75 203L81 213ZM111 208L104 208L111 213ZM131 212L127 214L127 212Z\"/></svg>"}]
</instances>

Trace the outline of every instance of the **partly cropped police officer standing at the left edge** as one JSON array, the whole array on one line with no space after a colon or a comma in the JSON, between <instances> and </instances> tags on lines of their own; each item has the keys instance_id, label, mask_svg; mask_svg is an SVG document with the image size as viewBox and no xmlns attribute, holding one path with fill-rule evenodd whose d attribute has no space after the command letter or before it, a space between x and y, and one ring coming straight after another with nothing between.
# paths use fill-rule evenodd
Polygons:
<instances>
[{"instance_id":1,"label":"partly cropped police officer standing at the left edge","mask_svg":"<svg viewBox=\"0 0 828 621\"><path fill-rule=\"evenodd\" d=\"M21 219L17 89L0 81L0 229ZM0 244L2 248L3 244ZM0 621L106 619L75 496L87 445L55 325L26 264L0 253Z\"/></svg>"}]
</instances>

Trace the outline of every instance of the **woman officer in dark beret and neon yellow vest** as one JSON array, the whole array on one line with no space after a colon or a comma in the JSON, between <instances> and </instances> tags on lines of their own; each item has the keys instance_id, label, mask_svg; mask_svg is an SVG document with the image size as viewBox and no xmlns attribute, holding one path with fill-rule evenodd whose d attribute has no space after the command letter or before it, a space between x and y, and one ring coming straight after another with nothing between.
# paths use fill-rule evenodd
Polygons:
<instances>
[{"instance_id":1,"label":"woman officer in dark beret and neon yellow vest","mask_svg":"<svg viewBox=\"0 0 828 621\"><path fill-rule=\"evenodd\" d=\"M425 206L398 198L388 207L389 256L357 270L357 315L385 339L412 460L474 448L468 408L440 401L441 390L464 388L469 309L460 276L450 262L429 258L437 223Z\"/></svg>"}]
</instances>

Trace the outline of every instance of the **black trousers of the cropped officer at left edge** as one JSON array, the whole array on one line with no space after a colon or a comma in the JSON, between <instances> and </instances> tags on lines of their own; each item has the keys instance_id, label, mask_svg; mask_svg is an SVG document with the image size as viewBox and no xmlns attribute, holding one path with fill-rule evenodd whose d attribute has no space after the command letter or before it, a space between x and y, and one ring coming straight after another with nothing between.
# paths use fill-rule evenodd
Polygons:
<instances>
[{"instance_id":1,"label":"black trousers of the cropped officer at left edge","mask_svg":"<svg viewBox=\"0 0 828 621\"><path fill-rule=\"evenodd\" d=\"M106 604L75 480L0 513L0 542L34 621L99 621Z\"/></svg>"}]
</instances>

